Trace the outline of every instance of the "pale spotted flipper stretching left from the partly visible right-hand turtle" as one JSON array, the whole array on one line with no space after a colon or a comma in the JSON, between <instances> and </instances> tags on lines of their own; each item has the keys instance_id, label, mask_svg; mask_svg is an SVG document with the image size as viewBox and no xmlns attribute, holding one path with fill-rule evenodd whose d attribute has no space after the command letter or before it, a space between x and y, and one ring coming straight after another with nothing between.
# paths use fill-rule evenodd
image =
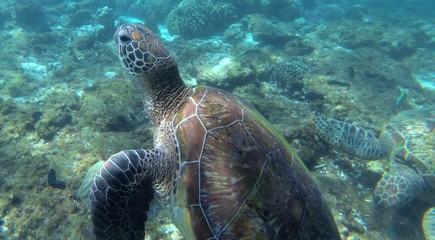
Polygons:
<instances>
[{"instance_id":1,"label":"pale spotted flipper stretching left from the partly visible right-hand turtle","mask_svg":"<svg viewBox=\"0 0 435 240\"><path fill-rule=\"evenodd\" d=\"M379 139L372 131L313 112L314 123L323 140L362 159L380 159L391 152L387 134Z\"/></svg>"}]
</instances>

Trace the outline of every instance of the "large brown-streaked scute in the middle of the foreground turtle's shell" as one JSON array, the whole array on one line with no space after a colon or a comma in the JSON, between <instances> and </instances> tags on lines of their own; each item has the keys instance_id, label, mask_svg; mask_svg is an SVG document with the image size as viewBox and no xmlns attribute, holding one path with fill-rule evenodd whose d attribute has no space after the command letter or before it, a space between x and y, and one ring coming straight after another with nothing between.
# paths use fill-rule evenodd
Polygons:
<instances>
[{"instance_id":1,"label":"large brown-streaked scute in the middle of the foreground turtle's shell","mask_svg":"<svg viewBox=\"0 0 435 240\"><path fill-rule=\"evenodd\" d=\"M200 161L200 201L216 236L231 223L266 161L241 122L208 133Z\"/></svg>"}]
</instances>

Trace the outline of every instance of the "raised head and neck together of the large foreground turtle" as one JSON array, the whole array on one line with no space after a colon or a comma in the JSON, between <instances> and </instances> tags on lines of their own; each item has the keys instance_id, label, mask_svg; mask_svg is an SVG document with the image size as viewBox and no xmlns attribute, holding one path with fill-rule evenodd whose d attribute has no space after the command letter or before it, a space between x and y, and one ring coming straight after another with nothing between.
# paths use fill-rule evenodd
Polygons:
<instances>
[{"instance_id":1,"label":"raised head and neck together of the large foreground turtle","mask_svg":"<svg viewBox=\"0 0 435 240\"><path fill-rule=\"evenodd\" d=\"M133 76L148 116L158 124L183 101L186 85L177 63L157 36L143 24L124 24L115 32L122 66Z\"/></svg>"}]
</instances>

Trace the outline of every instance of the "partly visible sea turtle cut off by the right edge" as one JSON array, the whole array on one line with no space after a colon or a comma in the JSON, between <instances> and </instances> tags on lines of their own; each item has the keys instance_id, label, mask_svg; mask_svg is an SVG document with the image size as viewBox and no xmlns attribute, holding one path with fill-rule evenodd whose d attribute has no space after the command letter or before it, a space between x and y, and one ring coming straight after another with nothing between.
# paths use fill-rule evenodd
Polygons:
<instances>
[{"instance_id":1,"label":"partly visible sea turtle cut off by the right edge","mask_svg":"<svg viewBox=\"0 0 435 240\"><path fill-rule=\"evenodd\" d=\"M400 208L414 200L435 204L435 105L395 116L379 138L372 131L314 112L321 138L362 159L389 157L390 169L374 189L381 208Z\"/></svg>"}]
</instances>

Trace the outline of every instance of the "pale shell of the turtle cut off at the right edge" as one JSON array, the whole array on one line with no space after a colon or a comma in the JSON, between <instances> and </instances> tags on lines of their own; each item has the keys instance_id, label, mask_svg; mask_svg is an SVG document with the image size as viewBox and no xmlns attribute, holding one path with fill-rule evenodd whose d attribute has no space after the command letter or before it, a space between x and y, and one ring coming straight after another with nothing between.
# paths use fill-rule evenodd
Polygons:
<instances>
[{"instance_id":1,"label":"pale shell of the turtle cut off at the right edge","mask_svg":"<svg viewBox=\"0 0 435 240\"><path fill-rule=\"evenodd\" d=\"M435 188L435 106L404 111L386 127L393 136L392 158L414 168Z\"/></svg>"}]
</instances>

